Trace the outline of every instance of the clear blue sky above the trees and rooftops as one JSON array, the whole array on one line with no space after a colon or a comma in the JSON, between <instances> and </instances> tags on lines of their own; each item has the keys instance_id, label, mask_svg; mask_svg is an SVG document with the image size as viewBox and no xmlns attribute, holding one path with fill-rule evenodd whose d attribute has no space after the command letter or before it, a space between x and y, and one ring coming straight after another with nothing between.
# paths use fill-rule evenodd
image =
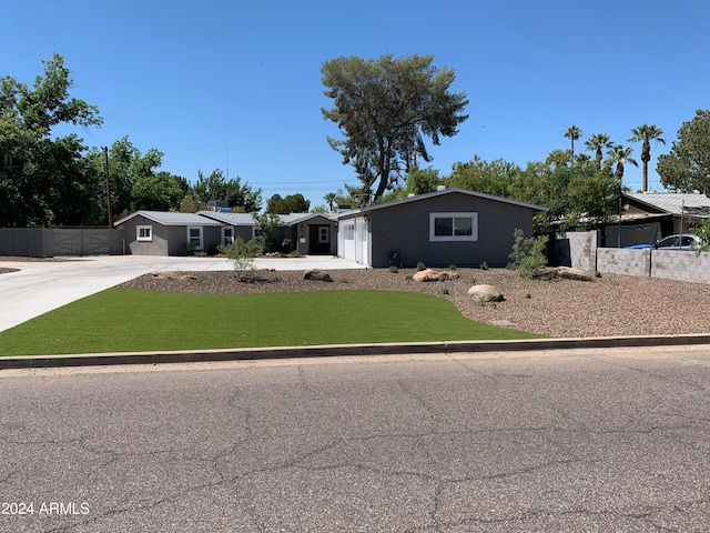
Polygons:
<instances>
[{"instance_id":1,"label":"clear blue sky above the trees and rooftops","mask_svg":"<svg viewBox=\"0 0 710 533\"><path fill-rule=\"evenodd\" d=\"M656 158L683 121L710 109L707 0L497 0L302 2L260 0L3 0L0 76L31 82L42 59L64 57L71 95L97 105L90 147L129 135L164 152L162 170L196 180L229 171L264 200L302 192L312 207L357 182L326 137L321 66L341 56L434 54L456 71L469 118L430 148L432 167L503 158L541 161L575 124L626 143L655 123L649 188L662 190ZM633 145L640 163L640 145ZM625 184L641 187L627 167Z\"/></svg>"}]
</instances>

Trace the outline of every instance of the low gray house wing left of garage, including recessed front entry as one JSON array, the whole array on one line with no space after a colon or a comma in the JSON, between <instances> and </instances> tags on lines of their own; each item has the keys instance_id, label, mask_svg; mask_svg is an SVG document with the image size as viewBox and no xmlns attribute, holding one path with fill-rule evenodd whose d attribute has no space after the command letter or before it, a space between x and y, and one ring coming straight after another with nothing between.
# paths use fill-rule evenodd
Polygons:
<instances>
[{"instance_id":1,"label":"low gray house wing left of garage, including recessed front entry","mask_svg":"<svg viewBox=\"0 0 710 533\"><path fill-rule=\"evenodd\" d=\"M287 250L303 254L335 255L335 213L293 213L278 218L282 223L275 231L276 243L286 243ZM258 235L258 224L251 213L222 211L136 211L114 225L123 227L126 253L136 255L213 253L217 245L233 242L237 237L248 241Z\"/></svg>"}]
</instances>

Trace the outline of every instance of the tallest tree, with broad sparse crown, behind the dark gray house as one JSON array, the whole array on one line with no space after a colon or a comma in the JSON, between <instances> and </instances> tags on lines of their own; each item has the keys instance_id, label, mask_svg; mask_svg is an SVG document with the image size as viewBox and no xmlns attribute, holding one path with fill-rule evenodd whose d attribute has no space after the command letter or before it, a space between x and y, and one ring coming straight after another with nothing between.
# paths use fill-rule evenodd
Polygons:
<instances>
[{"instance_id":1,"label":"tallest tree, with broad sparse crown, behind the dark gray house","mask_svg":"<svg viewBox=\"0 0 710 533\"><path fill-rule=\"evenodd\" d=\"M335 104L322 109L323 117L345 135L328 138L328 143L341 153L343 164L354 167L362 187L348 191L362 203L396 188L417 157L432 160L425 138L439 144L468 118L462 114L466 94L449 91L454 70L433 67L433 60L417 54L377 60L341 57L321 68L325 95Z\"/></svg>"}]
</instances>

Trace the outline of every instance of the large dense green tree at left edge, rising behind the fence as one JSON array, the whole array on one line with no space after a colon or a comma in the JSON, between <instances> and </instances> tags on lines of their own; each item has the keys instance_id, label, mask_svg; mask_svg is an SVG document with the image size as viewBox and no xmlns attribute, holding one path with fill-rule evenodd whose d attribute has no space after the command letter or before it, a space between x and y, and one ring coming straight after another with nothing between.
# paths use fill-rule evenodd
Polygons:
<instances>
[{"instance_id":1,"label":"large dense green tree at left edge, rising behind the fence","mask_svg":"<svg viewBox=\"0 0 710 533\"><path fill-rule=\"evenodd\" d=\"M70 98L73 80L60 54L42 61L33 84L0 78L0 225L53 225L93 221L100 182L82 161L75 134L57 125L101 125L99 110ZM72 211L74 209L75 211Z\"/></svg>"}]
</instances>

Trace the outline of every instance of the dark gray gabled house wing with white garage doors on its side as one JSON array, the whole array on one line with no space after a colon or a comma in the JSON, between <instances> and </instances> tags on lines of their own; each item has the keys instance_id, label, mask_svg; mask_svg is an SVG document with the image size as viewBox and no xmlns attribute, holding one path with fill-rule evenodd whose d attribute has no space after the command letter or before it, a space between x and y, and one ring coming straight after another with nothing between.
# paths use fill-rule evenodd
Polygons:
<instances>
[{"instance_id":1,"label":"dark gray gabled house wing with white garage doors on its side","mask_svg":"<svg viewBox=\"0 0 710 533\"><path fill-rule=\"evenodd\" d=\"M373 268L501 266L514 233L532 235L548 208L463 189L419 194L338 215L337 254Z\"/></svg>"}]
</instances>

